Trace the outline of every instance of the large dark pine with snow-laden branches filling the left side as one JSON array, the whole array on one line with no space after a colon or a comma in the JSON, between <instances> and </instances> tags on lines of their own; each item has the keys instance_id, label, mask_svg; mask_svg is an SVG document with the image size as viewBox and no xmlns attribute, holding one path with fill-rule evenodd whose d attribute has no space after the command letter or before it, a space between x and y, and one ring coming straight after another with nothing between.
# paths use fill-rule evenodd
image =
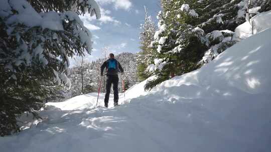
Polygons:
<instances>
[{"instance_id":1,"label":"large dark pine with snow-laden branches filling the left side","mask_svg":"<svg viewBox=\"0 0 271 152\"><path fill-rule=\"evenodd\" d=\"M100 17L94 0L0 1L0 135L19 131L16 117L38 116L56 85L70 85L68 57L91 52L79 14Z\"/></svg>"}]
</instances>

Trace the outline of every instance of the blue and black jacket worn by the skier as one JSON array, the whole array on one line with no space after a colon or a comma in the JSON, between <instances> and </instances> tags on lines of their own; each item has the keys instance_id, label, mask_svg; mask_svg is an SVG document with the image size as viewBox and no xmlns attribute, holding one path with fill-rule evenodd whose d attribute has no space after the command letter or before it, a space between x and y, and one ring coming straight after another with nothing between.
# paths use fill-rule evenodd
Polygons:
<instances>
[{"instance_id":1,"label":"blue and black jacket worn by the skier","mask_svg":"<svg viewBox=\"0 0 271 152\"><path fill-rule=\"evenodd\" d=\"M101 66L101 75L103 75L104 67L106 67L107 76L117 75L118 72L123 72L123 68L121 67L120 63L114 58L109 58L103 62Z\"/></svg>"}]
</instances>

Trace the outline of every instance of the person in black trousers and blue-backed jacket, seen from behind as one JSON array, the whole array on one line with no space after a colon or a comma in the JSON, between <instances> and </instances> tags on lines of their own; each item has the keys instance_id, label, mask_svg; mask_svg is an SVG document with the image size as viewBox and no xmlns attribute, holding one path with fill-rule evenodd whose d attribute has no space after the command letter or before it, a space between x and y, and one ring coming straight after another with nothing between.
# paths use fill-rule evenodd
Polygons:
<instances>
[{"instance_id":1,"label":"person in black trousers and blue-backed jacket, seen from behind","mask_svg":"<svg viewBox=\"0 0 271 152\"><path fill-rule=\"evenodd\" d=\"M101 65L101 76L103 76L103 69L106 67L106 93L104 97L104 106L108 107L109 94L111 84L113 83L114 91L114 106L118 105L118 72L123 73L123 68L120 63L114 58L113 53L109 53L109 59Z\"/></svg>"}]
</instances>

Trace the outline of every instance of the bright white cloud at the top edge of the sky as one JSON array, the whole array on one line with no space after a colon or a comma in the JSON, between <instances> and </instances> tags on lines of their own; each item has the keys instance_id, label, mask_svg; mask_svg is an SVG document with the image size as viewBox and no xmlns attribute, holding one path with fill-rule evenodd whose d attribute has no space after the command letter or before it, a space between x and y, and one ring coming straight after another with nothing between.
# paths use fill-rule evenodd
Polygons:
<instances>
[{"instance_id":1,"label":"bright white cloud at the top edge of the sky","mask_svg":"<svg viewBox=\"0 0 271 152\"><path fill-rule=\"evenodd\" d=\"M132 2L130 0L96 0L99 4L114 4L115 9L125 9L129 10L132 6Z\"/></svg>"}]
</instances>

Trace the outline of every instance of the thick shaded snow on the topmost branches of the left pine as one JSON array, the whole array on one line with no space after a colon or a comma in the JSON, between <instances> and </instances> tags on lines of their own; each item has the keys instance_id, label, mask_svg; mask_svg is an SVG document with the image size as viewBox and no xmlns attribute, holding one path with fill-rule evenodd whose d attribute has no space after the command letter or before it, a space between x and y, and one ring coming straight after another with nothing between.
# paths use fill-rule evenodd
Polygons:
<instances>
[{"instance_id":1,"label":"thick shaded snow on the topmost branches of the left pine","mask_svg":"<svg viewBox=\"0 0 271 152\"><path fill-rule=\"evenodd\" d=\"M96 17L100 18L100 8L96 1L85 0L85 2L91 6L91 8L89 8L91 12L90 15L96 14ZM18 11L18 14L8 18L7 23L9 24L21 23L29 27L42 26L42 28L51 30L63 30L62 21L65 20L65 17L68 17L70 20L76 19L76 21L83 25L83 23L81 23L82 21L78 19L78 15L72 11L64 13L55 11L38 13L26 0L2 0L0 4L0 16L5 17L12 14L12 8Z\"/></svg>"}]
</instances>

